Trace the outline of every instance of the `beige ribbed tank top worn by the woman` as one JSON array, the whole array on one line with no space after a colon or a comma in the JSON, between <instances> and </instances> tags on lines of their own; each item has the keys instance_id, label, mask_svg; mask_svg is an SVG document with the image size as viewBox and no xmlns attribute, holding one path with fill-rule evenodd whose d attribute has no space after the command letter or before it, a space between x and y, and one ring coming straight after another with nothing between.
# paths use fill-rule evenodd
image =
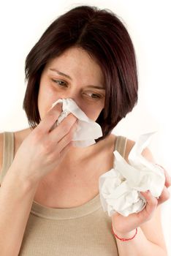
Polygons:
<instances>
[{"instance_id":1,"label":"beige ribbed tank top worn by the woman","mask_svg":"<svg viewBox=\"0 0 171 256\"><path fill-rule=\"evenodd\" d=\"M126 138L118 136L115 150L124 157L125 148ZM13 157L14 134L4 132L0 183ZM111 218L104 213L99 194L74 208L48 208L33 201L19 255L117 256Z\"/></svg>"}]
</instances>

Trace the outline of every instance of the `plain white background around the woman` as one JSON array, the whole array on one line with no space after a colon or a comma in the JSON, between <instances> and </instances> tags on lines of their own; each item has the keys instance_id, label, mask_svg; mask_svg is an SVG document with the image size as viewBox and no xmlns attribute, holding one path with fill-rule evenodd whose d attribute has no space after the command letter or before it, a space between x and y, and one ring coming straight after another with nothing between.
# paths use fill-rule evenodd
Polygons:
<instances>
[{"instance_id":1,"label":"plain white background around the woman","mask_svg":"<svg viewBox=\"0 0 171 256\"><path fill-rule=\"evenodd\" d=\"M115 134L136 140L141 133L157 131L149 147L156 162L170 173L170 0L3 1L0 4L0 132L28 127L22 109L26 55L58 15L81 4L113 10L125 23L136 50L139 102L118 124ZM169 255L170 201L162 206Z\"/></svg>"}]
</instances>

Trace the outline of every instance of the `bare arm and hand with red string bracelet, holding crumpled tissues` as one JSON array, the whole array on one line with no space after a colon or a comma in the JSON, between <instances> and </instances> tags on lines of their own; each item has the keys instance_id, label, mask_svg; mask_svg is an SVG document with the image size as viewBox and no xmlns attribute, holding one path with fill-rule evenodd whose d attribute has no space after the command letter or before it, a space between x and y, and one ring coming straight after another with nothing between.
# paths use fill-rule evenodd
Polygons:
<instances>
[{"instance_id":1,"label":"bare arm and hand with red string bracelet, holding crumpled tissues","mask_svg":"<svg viewBox=\"0 0 171 256\"><path fill-rule=\"evenodd\" d=\"M129 140L126 148L126 160L134 142ZM153 162L151 152L146 148L143 156ZM159 200L151 195L151 192L143 193L147 200L146 207L138 214L130 214L123 217L121 214L113 214L113 230L120 238L132 238L137 227L137 236L130 241L120 241L116 238L120 256L167 256L164 235L161 227L159 204L169 198L167 187L170 186L170 177L166 175L166 183Z\"/></svg>"}]
</instances>

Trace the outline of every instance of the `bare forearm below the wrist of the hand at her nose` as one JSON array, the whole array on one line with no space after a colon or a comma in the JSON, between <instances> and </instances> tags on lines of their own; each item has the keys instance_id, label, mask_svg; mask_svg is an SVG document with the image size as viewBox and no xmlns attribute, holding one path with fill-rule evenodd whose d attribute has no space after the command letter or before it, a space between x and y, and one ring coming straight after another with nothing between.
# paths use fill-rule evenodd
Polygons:
<instances>
[{"instance_id":1,"label":"bare forearm below the wrist of the hand at her nose","mask_svg":"<svg viewBox=\"0 0 171 256\"><path fill-rule=\"evenodd\" d=\"M17 256L37 184L20 180L17 170L9 169L0 189L1 256Z\"/></svg>"}]
</instances>

